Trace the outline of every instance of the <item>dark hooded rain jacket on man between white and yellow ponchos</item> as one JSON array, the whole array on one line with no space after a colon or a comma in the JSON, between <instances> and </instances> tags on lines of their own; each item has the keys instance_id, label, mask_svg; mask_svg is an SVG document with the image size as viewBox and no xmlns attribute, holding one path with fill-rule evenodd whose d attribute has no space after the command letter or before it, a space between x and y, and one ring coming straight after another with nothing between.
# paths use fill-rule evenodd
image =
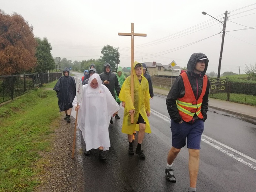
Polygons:
<instances>
[{"instance_id":1,"label":"dark hooded rain jacket on man between white and yellow ponchos","mask_svg":"<svg viewBox=\"0 0 256 192\"><path fill-rule=\"evenodd\" d=\"M110 67L109 73L106 72L106 66ZM115 90L116 90L117 96L119 96L121 88L115 73L111 72L111 66L109 63L104 64L104 72L100 73L100 79L102 81L109 80L109 84L104 84L104 85L107 87L107 89L109 89L110 93L113 95L114 99L116 100Z\"/></svg>"}]
</instances>

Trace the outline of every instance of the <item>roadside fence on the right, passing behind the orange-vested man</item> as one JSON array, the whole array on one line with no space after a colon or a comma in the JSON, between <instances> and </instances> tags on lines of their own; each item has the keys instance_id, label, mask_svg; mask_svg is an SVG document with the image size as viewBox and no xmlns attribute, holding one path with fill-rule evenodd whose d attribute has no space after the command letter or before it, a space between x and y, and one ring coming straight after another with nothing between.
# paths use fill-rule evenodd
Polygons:
<instances>
[{"instance_id":1,"label":"roadside fence on the right, passing behind the orange-vested man","mask_svg":"<svg viewBox=\"0 0 256 192\"><path fill-rule=\"evenodd\" d=\"M154 86L170 89L176 78L151 76ZM256 106L256 82L227 82L226 79L209 78L211 83L209 97L230 102Z\"/></svg>"}]
</instances>

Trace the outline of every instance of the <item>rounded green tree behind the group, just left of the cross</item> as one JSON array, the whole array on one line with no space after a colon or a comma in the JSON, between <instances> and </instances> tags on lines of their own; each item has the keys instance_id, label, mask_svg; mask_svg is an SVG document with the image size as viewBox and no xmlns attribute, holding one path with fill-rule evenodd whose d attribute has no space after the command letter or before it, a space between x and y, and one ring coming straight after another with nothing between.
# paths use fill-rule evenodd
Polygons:
<instances>
[{"instance_id":1,"label":"rounded green tree behind the group, just left of the cross","mask_svg":"<svg viewBox=\"0 0 256 192\"><path fill-rule=\"evenodd\" d=\"M116 63L120 62L120 60L119 60L120 54L118 52L118 55L117 55L117 49L115 49L114 47L112 47L110 45L106 45L102 48L101 54L103 56L100 56L100 58L105 63L109 63L112 70L115 70L116 69Z\"/></svg>"}]
</instances>

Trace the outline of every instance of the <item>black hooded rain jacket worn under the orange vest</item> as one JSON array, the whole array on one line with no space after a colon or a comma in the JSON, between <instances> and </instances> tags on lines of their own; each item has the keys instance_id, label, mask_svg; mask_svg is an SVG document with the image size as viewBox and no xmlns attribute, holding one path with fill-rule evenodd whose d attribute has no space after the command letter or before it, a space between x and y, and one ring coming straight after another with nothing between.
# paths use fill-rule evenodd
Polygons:
<instances>
[{"instance_id":1,"label":"black hooded rain jacket worn under the orange vest","mask_svg":"<svg viewBox=\"0 0 256 192\"><path fill-rule=\"evenodd\" d=\"M188 79L190 81L190 84L196 99L198 99L202 93L203 76L205 75L205 72L208 67L208 62L207 62L205 63L204 72L202 72L201 74L197 74L193 72L195 68L195 64L197 64L197 61L202 58L207 58L207 57L205 54L202 54L202 53L192 54L187 65L188 71L185 72L188 75ZM210 82L208 79L207 87L206 87L206 91L203 97L202 107L201 107L201 113L202 113L202 116L204 117L203 119L204 121L207 119L206 112L208 111L209 89L210 89ZM170 118L173 119L176 123L182 120L177 109L176 100L178 98L184 97L184 95L185 95L185 87L184 87L183 79L181 76L178 76L175 79L175 82L173 83L173 86L171 87L171 90L168 93L167 99L166 99L166 106L167 106L167 110L170 115ZM195 120L197 120L198 118L199 117L195 114L194 118L191 120L190 123L195 122Z\"/></svg>"}]
</instances>

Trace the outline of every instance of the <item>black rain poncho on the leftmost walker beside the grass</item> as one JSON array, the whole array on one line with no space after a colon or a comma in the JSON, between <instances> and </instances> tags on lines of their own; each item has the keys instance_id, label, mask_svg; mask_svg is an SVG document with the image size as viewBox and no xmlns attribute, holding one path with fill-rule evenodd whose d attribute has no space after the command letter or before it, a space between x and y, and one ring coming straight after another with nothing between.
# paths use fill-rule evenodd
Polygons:
<instances>
[{"instance_id":1,"label":"black rain poncho on the leftmost walker beside the grass","mask_svg":"<svg viewBox=\"0 0 256 192\"><path fill-rule=\"evenodd\" d=\"M68 68L63 70L63 75L65 71L68 71ZM76 96L76 83L74 77L69 76L69 71L68 76L64 75L59 78L53 90L57 93L59 112L73 107L72 103Z\"/></svg>"}]
</instances>

